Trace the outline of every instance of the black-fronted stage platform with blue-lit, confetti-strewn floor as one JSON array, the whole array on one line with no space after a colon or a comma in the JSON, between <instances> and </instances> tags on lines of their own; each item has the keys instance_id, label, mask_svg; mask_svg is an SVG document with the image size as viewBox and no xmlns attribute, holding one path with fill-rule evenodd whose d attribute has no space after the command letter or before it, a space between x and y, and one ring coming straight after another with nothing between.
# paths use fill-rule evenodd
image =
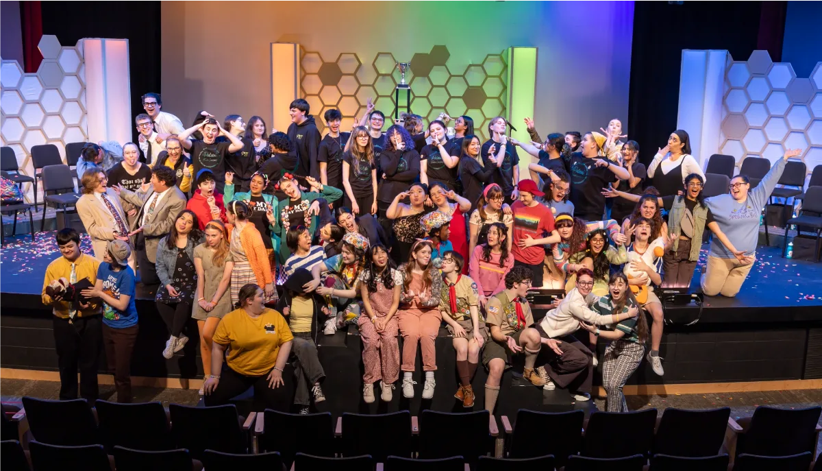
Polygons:
<instances>
[{"instance_id":1,"label":"black-fronted stage platform with blue-lit, confetti-strewn floor","mask_svg":"<svg viewBox=\"0 0 822 471\"><path fill-rule=\"evenodd\" d=\"M81 246L84 252L90 253L88 235L83 235ZM706 249L707 245L693 287L698 286ZM674 323L666 326L660 352L665 376L654 375L644 361L628 384L822 378L822 264L809 261L810 257L783 259L780 254L779 247L760 246L755 268L735 298L706 296L701 311L695 305L668 306L666 316L674 319ZM803 252L797 249L795 254L801 256ZM46 266L58 256L53 231L37 234L34 243L26 236L7 239L7 245L0 249L0 367L57 370L51 314L40 301L40 291ZM161 356L168 333L155 308L153 294L138 284L136 305L140 312L140 335L132 374L201 379L193 321L189 330L193 341L181 352L184 354L169 361ZM535 309L535 315L544 315L544 310ZM686 325L693 319L698 321ZM399 382L392 403L382 404L379 399L374 404L363 403L361 347L355 328L321 338L321 361L327 375L324 389L328 396L323 408L335 413L358 410L376 413L402 408L412 411L461 409L452 398L457 379L454 352L446 329L441 329L436 343L440 368L436 372L436 394L430 403L420 403L422 371L415 374L417 397L410 403L400 399ZM598 345L600 357L604 347L604 343ZM418 361L418 365L421 364L422 361ZM504 376L498 413L512 414L522 407L542 410L574 407L565 392L543 394L541 389L523 384L516 374L521 367ZM483 407L485 377L481 368L473 381L478 394L475 408ZM597 374L595 384L600 378ZM378 394L376 389L375 395ZM577 407L586 406L577 404Z\"/></svg>"}]
</instances>

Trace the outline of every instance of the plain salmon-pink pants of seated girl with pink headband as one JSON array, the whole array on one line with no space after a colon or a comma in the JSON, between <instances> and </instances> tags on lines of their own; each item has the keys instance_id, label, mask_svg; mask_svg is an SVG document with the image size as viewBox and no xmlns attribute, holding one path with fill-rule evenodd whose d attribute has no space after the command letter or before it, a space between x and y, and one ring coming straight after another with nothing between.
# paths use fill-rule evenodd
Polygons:
<instances>
[{"instance_id":1,"label":"plain salmon-pink pants of seated girl with pink headband","mask_svg":"<svg viewBox=\"0 0 822 471\"><path fill-rule=\"evenodd\" d=\"M402 371L415 371L417 343L423 347L423 371L436 371L434 341L440 332L440 310L398 310L399 332L403 334Z\"/></svg>"}]
</instances>

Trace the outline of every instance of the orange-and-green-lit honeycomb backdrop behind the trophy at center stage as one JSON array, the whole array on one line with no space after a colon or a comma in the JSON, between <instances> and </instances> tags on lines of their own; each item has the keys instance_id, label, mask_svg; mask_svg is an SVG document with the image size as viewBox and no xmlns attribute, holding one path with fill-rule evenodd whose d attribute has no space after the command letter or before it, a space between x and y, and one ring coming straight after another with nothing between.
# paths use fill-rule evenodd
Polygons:
<instances>
[{"instance_id":1,"label":"orange-and-green-lit honeycomb backdrop behind the trophy at center stage","mask_svg":"<svg viewBox=\"0 0 822 471\"><path fill-rule=\"evenodd\" d=\"M301 49L300 57L302 97L311 105L321 132L326 110L338 109L343 114L342 128L349 129L355 118L363 117L369 98L376 110L386 114L386 128L390 125L388 117L393 118L397 107L395 86L402 77L394 54L377 53L371 61L363 61L356 53L343 53L326 62L320 53ZM426 122L443 111L453 118L467 114L475 133L487 139L488 122L506 112L506 56L487 54L482 63L462 71L455 70L459 66L453 62L444 45L412 55L405 72L405 82L411 86L411 112ZM404 110L403 93L400 110Z\"/></svg>"}]
</instances>

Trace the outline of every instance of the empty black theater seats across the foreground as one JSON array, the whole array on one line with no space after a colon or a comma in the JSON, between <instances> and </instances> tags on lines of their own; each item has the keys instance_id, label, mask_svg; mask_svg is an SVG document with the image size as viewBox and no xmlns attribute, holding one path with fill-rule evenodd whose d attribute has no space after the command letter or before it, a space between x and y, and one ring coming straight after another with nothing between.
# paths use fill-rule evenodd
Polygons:
<instances>
[{"instance_id":1,"label":"empty black theater seats across the foreground","mask_svg":"<svg viewBox=\"0 0 822 471\"><path fill-rule=\"evenodd\" d=\"M822 408L760 407L632 413L423 410L308 415L233 405L23 398L6 407L0 468L17 470L607 469L780 471L815 465ZM22 445L21 445L22 444ZM729 464L732 464L729 466ZM813 468L811 468L813 466Z\"/></svg>"}]
</instances>

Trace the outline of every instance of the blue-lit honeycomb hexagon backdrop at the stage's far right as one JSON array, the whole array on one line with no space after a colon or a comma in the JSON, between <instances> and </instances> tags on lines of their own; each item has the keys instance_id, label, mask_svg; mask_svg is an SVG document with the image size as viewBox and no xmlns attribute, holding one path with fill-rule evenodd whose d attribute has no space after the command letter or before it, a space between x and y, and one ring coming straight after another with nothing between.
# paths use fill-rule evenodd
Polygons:
<instances>
[{"instance_id":1,"label":"blue-lit honeycomb hexagon backdrop at the stage's far right","mask_svg":"<svg viewBox=\"0 0 822 471\"><path fill-rule=\"evenodd\" d=\"M790 63L774 63L768 51L746 61L728 54L719 152L776 161L800 148L808 173L822 165L822 63L809 78L797 77Z\"/></svg>"}]
</instances>

